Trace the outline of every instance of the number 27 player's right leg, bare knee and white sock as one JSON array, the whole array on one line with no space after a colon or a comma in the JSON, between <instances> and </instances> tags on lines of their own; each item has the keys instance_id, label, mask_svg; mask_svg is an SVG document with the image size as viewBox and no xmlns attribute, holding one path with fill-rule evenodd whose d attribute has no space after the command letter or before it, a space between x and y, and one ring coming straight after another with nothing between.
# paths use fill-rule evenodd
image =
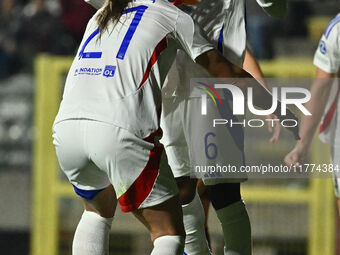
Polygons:
<instances>
[{"instance_id":1,"label":"number 27 player's right leg, bare knee and white sock","mask_svg":"<svg viewBox=\"0 0 340 255\"><path fill-rule=\"evenodd\" d=\"M133 212L150 231L154 249L151 255L183 255L185 231L178 197Z\"/></svg>"}]
</instances>

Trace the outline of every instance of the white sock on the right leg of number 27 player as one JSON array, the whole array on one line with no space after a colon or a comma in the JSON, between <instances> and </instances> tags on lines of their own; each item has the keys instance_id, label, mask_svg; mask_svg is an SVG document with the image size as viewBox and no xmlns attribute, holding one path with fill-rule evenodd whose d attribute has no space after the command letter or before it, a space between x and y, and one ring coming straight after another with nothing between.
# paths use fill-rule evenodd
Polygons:
<instances>
[{"instance_id":1,"label":"white sock on the right leg of number 27 player","mask_svg":"<svg viewBox=\"0 0 340 255\"><path fill-rule=\"evenodd\" d=\"M151 255L183 255L183 236L161 236L153 242Z\"/></svg>"}]
</instances>

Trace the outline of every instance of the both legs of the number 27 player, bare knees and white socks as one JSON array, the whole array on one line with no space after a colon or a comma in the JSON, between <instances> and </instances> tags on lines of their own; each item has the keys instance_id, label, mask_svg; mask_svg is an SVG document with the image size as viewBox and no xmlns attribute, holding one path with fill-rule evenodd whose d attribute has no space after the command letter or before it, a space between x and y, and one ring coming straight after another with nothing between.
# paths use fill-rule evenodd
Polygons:
<instances>
[{"instance_id":1,"label":"both legs of the number 27 player, bare knees and white socks","mask_svg":"<svg viewBox=\"0 0 340 255\"><path fill-rule=\"evenodd\" d=\"M117 206L116 194L110 185L93 200L83 199L85 212L78 224L73 255L109 254L109 232ZM154 242L152 255L182 255L185 231L178 198L134 212L149 229Z\"/></svg>"}]
</instances>

